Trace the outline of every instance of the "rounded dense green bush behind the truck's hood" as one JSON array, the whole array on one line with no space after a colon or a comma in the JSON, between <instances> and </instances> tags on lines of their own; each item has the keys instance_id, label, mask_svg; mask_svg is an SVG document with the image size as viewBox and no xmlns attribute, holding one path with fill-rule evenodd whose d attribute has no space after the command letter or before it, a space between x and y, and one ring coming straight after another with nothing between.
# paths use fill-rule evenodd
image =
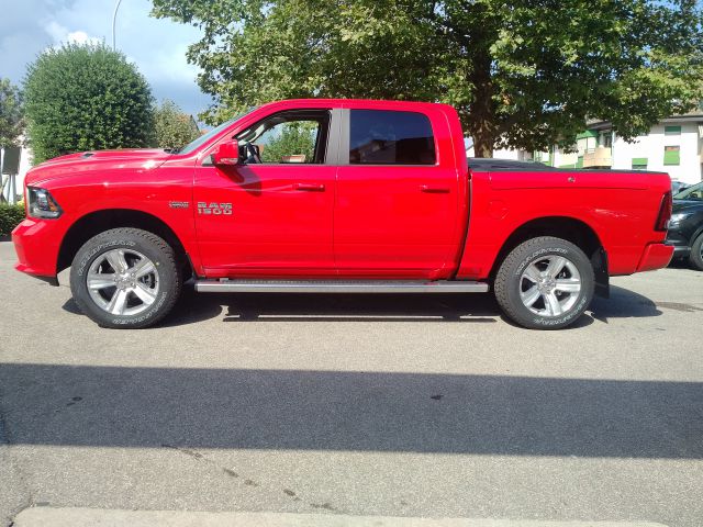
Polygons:
<instances>
[{"instance_id":1,"label":"rounded dense green bush behind the truck's hood","mask_svg":"<svg viewBox=\"0 0 703 527\"><path fill-rule=\"evenodd\" d=\"M24 81L34 161L71 152L148 146L152 92L124 55L103 44L45 49Z\"/></svg>"}]
</instances>

